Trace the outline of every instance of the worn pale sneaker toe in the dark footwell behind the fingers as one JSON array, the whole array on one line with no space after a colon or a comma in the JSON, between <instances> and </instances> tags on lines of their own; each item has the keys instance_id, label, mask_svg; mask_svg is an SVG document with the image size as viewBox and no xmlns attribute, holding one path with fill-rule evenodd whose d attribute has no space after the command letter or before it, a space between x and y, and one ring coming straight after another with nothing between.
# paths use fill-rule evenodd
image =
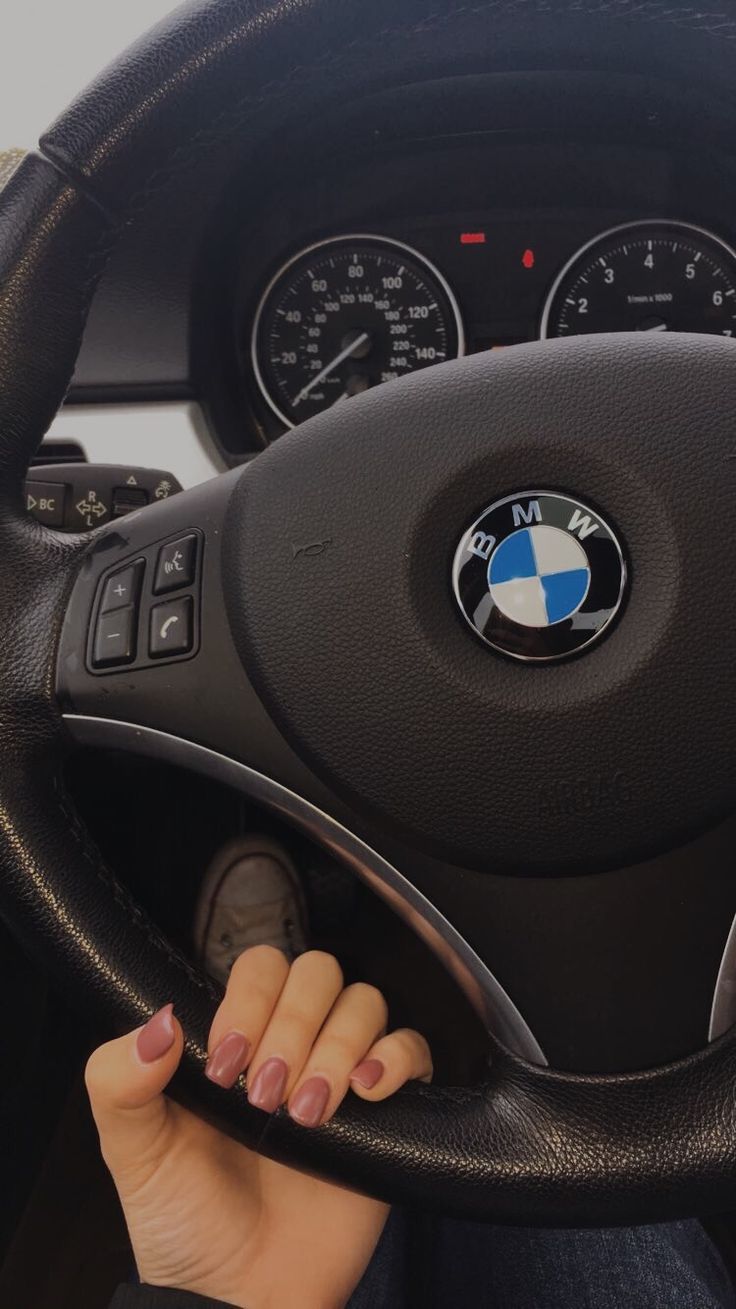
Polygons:
<instances>
[{"instance_id":1,"label":"worn pale sneaker toe in the dark footwell behind the fingers","mask_svg":"<svg viewBox=\"0 0 736 1309\"><path fill-rule=\"evenodd\" d=\"M217 851L194 914L198 963L227 983L238 954L275 945L288 958L308 944L301 882L285 850L268 836L240 836Z\"/></svg>"}]
</instances>

